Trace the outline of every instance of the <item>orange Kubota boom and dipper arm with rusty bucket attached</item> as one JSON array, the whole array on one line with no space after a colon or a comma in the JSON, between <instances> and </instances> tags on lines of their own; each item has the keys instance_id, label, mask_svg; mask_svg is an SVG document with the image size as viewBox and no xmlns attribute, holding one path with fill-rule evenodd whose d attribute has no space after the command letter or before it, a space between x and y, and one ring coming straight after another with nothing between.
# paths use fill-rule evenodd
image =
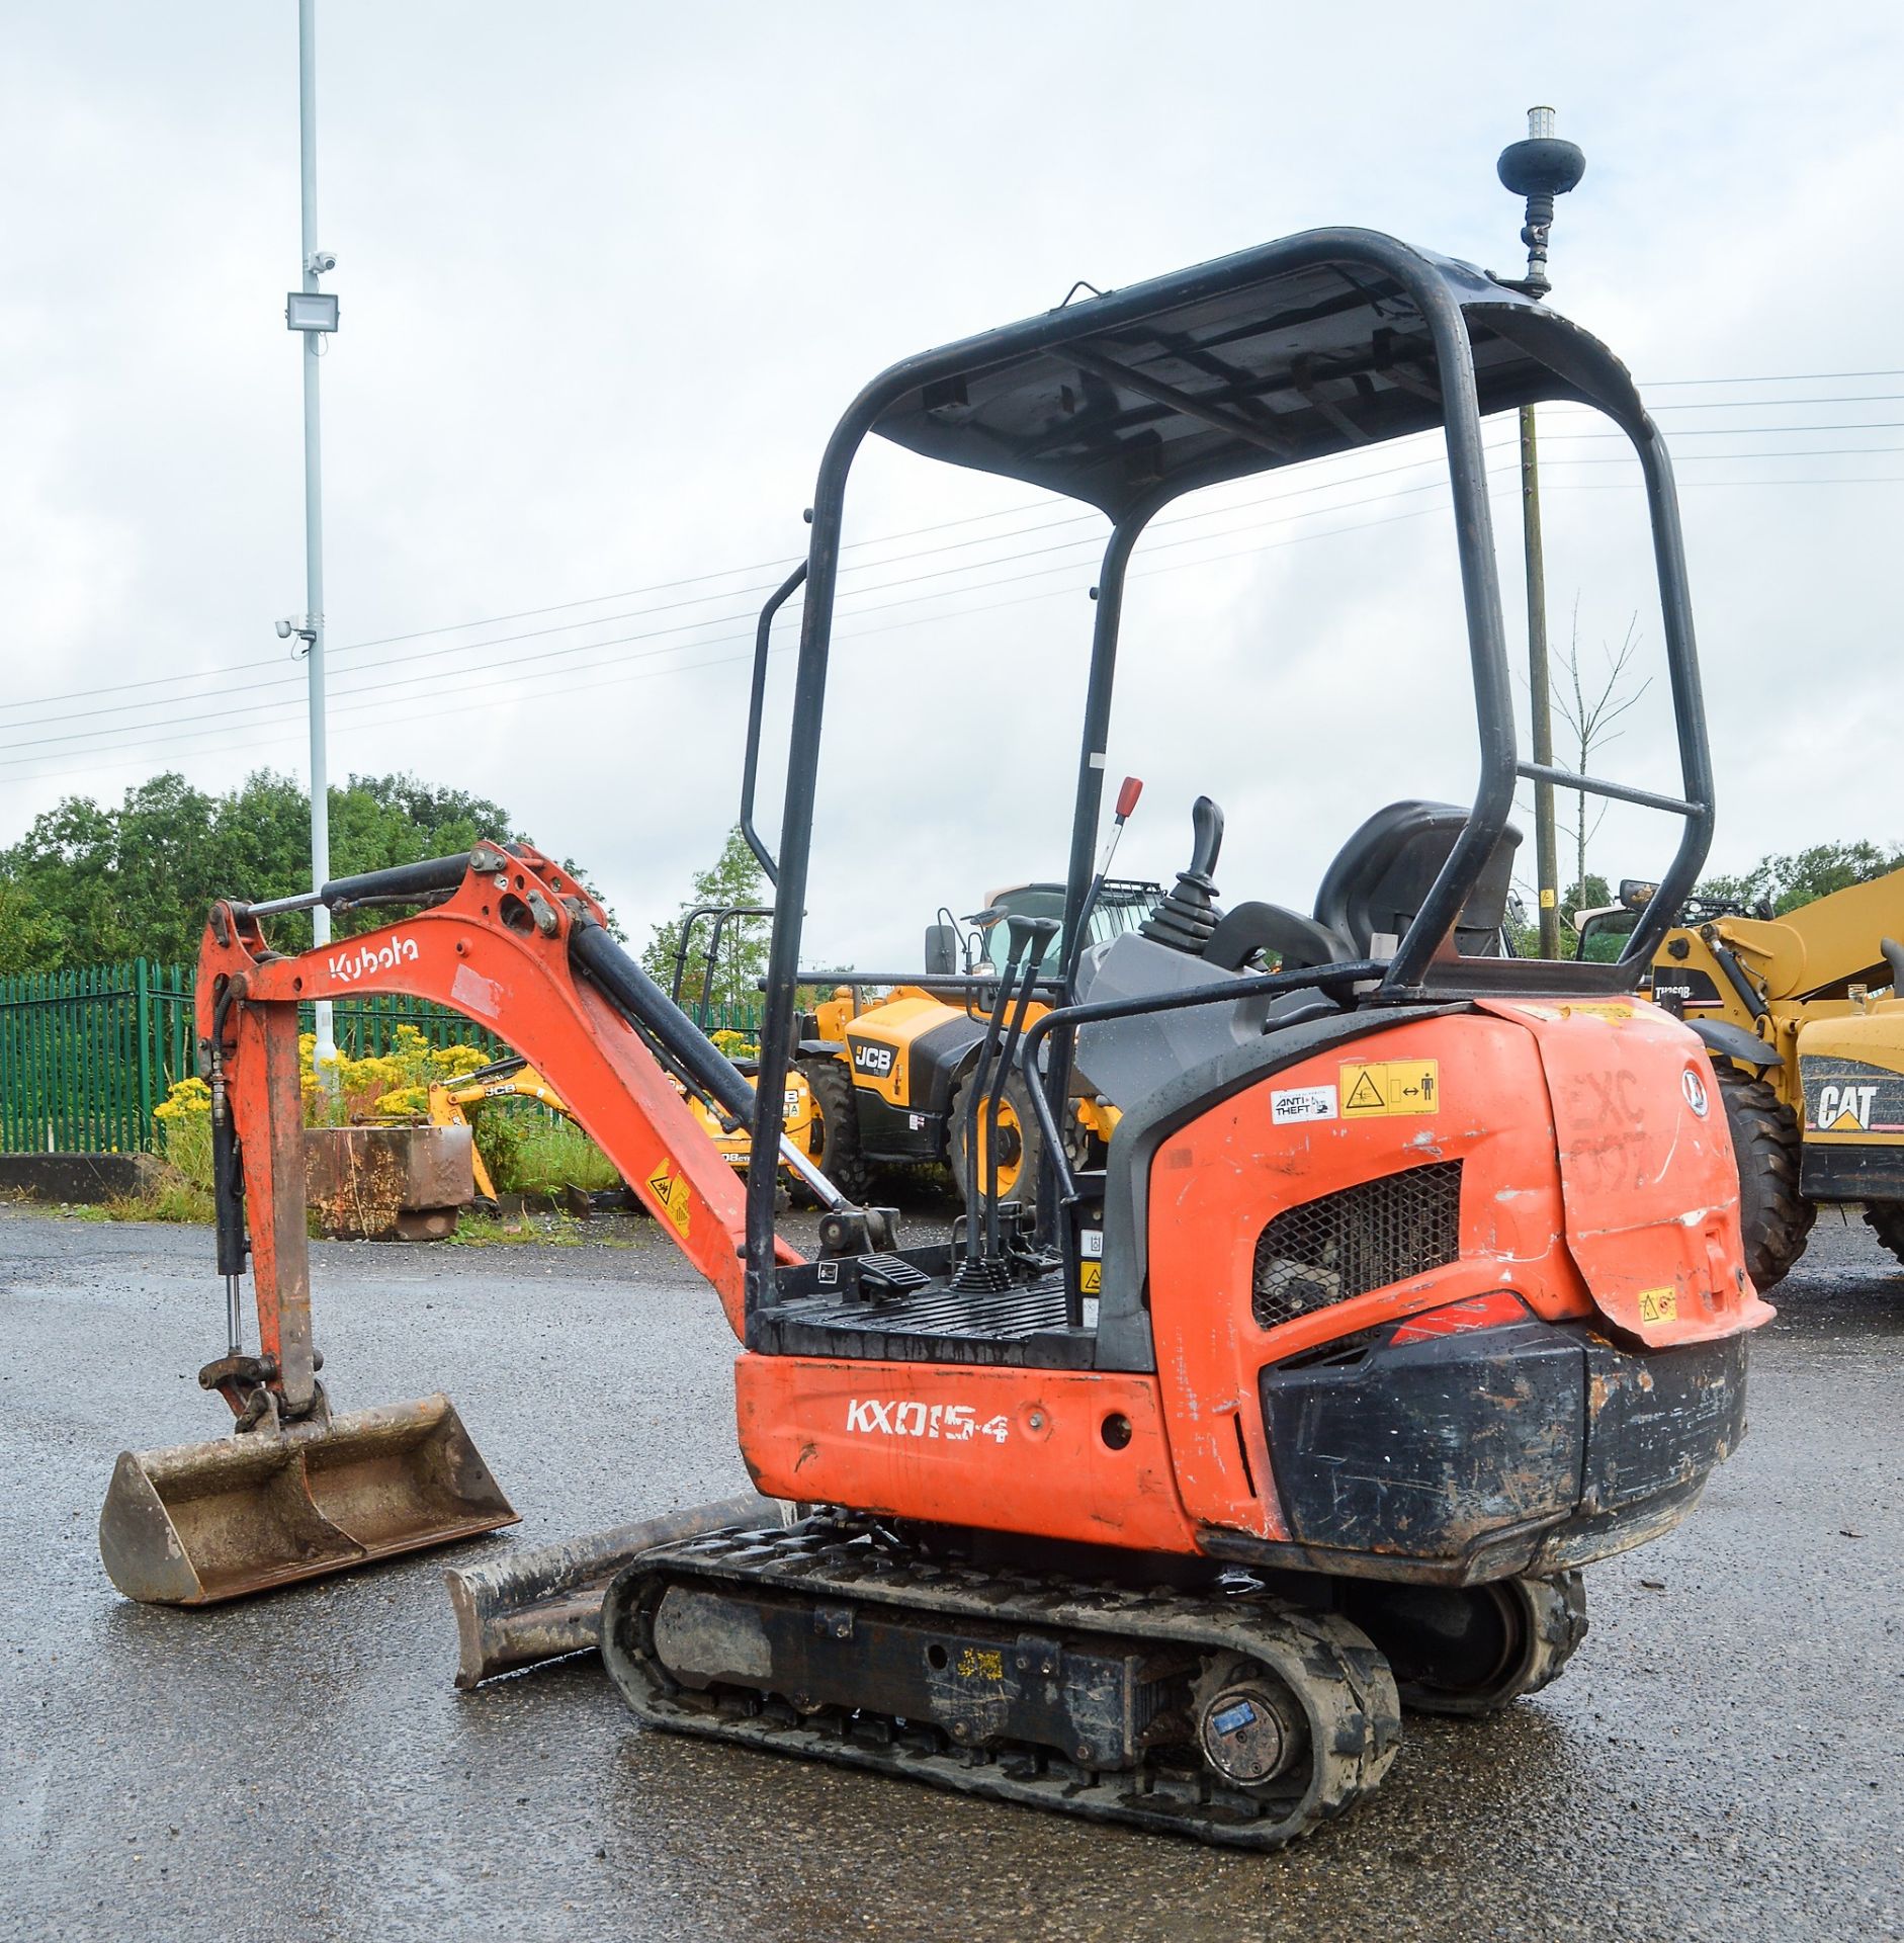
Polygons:
<instances>
[{"instance_id":1,"label":"orange Kubota boom and dipper arm with rusty bucket attached","mask_svg":"<svg viewBox=\"0 0 1904 1943\"><path fill-rule=\"evenodd\" d=\"M272 911L311 903L420 900L414 917L299 956L270 950L260 929ZM229 1350L198 1380L237 1422L229 1438L120 1453L99 1554L130 1599L210 1605L517 1521L449 1397L332 1416L317 1380L297 1008L371 991L433 999L507 1032L742 1331L742 1189L676 1080L746 1123L752 1090L558 865L478 843L307 898L214 905L196 1024L212 1082ZM239 1343L247 1228L256 1354Z\"/></svg>"}]
</instances>

